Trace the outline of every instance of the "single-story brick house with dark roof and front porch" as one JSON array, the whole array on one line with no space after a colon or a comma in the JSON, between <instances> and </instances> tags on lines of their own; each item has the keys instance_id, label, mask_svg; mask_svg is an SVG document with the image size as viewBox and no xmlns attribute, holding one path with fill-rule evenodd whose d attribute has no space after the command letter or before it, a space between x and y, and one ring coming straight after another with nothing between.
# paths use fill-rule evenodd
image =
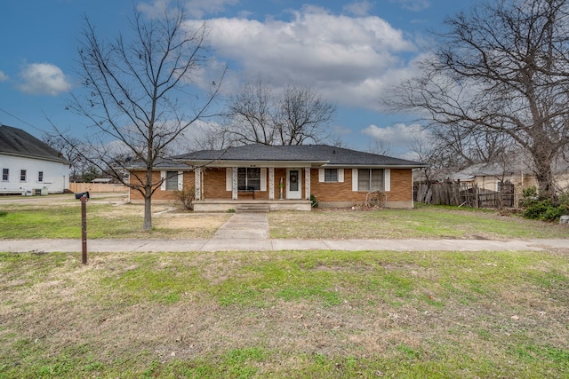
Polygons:
<instances>
[{"instance_id":1,"label":"single-story brick house with dark roof and front porch","mask_svg":"<svg viewBox=\"0 0 569 379\"><path fill-rule=\"evenodd\" d=\"M156 167L156 179L163 182L153 200L173 200L173 190L194 186L196 211L247 203L309 210L311 195L319 207L350 207L364 203L373 191L385 195L386 207L413 208L412 171L425 167L325 145L237 146L182 154L168 162ZM132 190L131 199L138 199Z\"/></svg>"}]
</instances>

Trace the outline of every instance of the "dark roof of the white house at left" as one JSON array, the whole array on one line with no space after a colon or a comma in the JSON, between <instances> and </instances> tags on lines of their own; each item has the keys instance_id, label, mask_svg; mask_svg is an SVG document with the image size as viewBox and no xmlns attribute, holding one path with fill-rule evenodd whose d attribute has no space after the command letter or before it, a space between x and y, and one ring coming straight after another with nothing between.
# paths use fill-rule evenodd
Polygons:
<instances>
[{"instance_id":1,"label":"dark roof of the white house at left","mask_svg":"<svg viewBox=\"0 0 569 379\"><path fill-rule=\"evenodd\" d=\"M57 150L43 141L24 130L7 125L0 125L0 153L70 163Z\"/></svg>"}]
</instances>

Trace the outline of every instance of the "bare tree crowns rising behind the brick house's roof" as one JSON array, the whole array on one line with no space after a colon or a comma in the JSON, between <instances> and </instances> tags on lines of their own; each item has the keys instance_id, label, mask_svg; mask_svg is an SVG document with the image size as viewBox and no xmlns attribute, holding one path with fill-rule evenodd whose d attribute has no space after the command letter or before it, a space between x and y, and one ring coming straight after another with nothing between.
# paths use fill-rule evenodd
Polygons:
<instances>
[{"instance_id":1,"label":"bare tree crowns rising behind the brick house's roof","mask_svg":"<svg viewBox=\"0 0 569 379\"><path fill-rule=\"evenodd\" d=\"M247 81L228 101L228 141L301 145L328 137L336 107L310 87L289 85L280 94L263 78Z\"/></svg>"}]
</instances>

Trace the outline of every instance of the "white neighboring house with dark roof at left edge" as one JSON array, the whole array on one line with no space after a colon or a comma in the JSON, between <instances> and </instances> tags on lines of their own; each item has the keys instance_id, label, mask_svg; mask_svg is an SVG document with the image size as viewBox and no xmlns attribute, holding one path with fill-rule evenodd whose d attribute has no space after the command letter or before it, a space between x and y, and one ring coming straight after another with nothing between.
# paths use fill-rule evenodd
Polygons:
<instances>
[{"instance_id":1,"label":"white neighboring house with dark roof at left edge","mask_svg":"<svg viewBox=\"0 0 569 379\"><path fill-rule=\"evenodd\" d=\"M70 165L26 131L0 124L0 193L63 193L69 189Z\"/></svg>"}]
</instances>

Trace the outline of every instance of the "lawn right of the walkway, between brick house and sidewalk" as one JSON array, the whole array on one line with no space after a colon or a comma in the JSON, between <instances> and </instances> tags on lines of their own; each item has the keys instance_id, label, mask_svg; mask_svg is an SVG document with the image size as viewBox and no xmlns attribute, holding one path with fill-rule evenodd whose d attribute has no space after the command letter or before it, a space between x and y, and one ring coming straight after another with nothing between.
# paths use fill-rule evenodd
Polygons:
<instances>
[{"instance_id":1,"label":"lawn right of the walkway, between brick house and sidewalk","mask_svg":"<svg viewBox=\"0 0 569 379\"><path fill-rule=\"evenodd\" d=\"M568 238L562 225L500 216L488 210L419 206L417 209L269 213L272 238L293 239L533 239Z\"/></svg>"}]
</instances>

